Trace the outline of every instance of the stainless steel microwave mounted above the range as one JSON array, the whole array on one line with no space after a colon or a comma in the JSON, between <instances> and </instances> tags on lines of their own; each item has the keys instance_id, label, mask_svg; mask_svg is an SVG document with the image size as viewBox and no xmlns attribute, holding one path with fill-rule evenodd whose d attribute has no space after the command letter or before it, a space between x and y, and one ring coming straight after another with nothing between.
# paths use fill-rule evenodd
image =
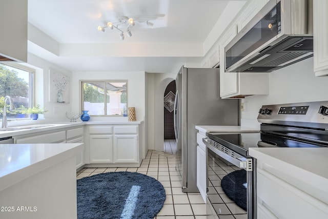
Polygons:
<instances>
[{"instance_id":1,"label":"stainless steel microwave mounted above the range","mask_svg":"<svg viewBox=\"0 0 328 219\"><path fill-rule=\"evenodd\" d=\"M270 0L224 48L226 72L272 72L313 56L312 0Z\"/></svg>"}]
</instances>

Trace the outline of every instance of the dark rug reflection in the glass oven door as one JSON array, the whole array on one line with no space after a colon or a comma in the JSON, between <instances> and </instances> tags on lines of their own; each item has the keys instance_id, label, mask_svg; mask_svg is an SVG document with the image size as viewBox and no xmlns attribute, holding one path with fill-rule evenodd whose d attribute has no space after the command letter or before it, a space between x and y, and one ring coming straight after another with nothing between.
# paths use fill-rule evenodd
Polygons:
<instances>
[{"instance_id":1,"label":"dark rug reflection in the glass oven door","mask_svg":"<svg viewBox=\"0 0 328 219\"><path fill-rule=\"evenodd\" d=\"M247 210L246 170L236 170L225 175L221 180L221 187L236 205Z\"/></svg>"}]
</instances>

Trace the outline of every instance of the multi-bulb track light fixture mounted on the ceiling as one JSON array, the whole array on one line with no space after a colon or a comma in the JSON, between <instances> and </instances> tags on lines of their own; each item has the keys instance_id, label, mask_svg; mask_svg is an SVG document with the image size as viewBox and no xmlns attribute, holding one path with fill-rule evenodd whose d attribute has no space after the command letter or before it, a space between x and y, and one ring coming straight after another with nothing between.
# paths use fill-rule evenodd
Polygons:
<instances>
[{"instance_id":1,"label":"multi-bulb track light fixture mounted on the ceiling","mask_svg":"<svg viewBox=\"0 0 328 219\"><path fill-rule=\"evenodd\" d=\"M150 28L154 28L154 24L149 22L149 21L145 21L145 20L137 20L138 23L146 23L148 27ZM127 17L127 16L120 16L118 17L118 21L117 22L108 22L107 26L98 26L98 30L105 32L105 28L111 29L113 30L114 28L119 30L120 33L120 39L124 40L124 33L126 32L127 35L130 37L132 36L130 27L133 27L135 25L135 19L133 19L132 17ZM124 29L126 29L126 31L124 31Z\"/></svg>"}]
</instances>

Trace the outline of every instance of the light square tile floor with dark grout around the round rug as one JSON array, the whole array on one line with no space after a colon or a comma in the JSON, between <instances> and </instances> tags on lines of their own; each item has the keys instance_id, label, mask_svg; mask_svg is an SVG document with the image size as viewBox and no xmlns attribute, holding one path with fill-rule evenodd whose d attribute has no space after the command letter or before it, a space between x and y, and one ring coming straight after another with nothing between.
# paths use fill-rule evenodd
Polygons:
<instances>
[{"instance_id":1,"label":"light square tile floor with dark grout around the round rug","mask_svg":"<svg viewBox=\"0 0 328 219\"><path fill-rule=\"evenodd\" d=\"M175 170L175 155L148 151L139 168L83 168L76 173L82 178L103 172L131 171L156 178L166 190L166 201L156 219L205 219L206 204L199 193L183 193L178 172Z\"/></svg>"}]
</instances>

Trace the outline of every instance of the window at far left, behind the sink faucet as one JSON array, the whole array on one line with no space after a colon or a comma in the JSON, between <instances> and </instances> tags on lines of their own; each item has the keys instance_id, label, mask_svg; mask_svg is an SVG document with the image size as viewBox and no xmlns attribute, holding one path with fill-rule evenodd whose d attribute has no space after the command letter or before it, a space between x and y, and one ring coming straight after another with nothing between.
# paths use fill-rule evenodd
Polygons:
<instances>
[{"instance_id":1,"label":"window at far left, behind the sink faucet","mask_svg":"<svg viewBox=\"0 0 328 219\"><path fill-rule=\"evenodd\" d=\"M24 118L24 109L33 105L34 70L17 64L0 64L0 113L3 114L5 96L12 98L15 109L7 104L7 118ZM23 113L22 113L23 112Z\"/></svg>"}]
</instances>

